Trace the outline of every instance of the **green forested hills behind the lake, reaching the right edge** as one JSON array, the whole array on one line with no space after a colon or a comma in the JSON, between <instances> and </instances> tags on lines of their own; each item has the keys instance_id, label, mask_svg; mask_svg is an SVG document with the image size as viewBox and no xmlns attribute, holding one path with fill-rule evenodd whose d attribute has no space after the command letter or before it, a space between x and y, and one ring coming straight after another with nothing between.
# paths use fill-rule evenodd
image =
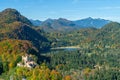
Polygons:
<instances>
[{"instance_id":1,"label":"green forested hills behind the lake, reaching the right edge","mask_svg":"<svg viewBox=\"0 0 120 80\"><path fill-rule=\"evenodd\" d=\"M111 22L106 24L101 29L96 28L85 28L69 33L53 32L46 34L47 37L52 41L52 46L85 46L86 44L104 46L120 45L120 24L117 22ZM88 45L87 45L88 46Z\"/></svg>"}]
</instances>

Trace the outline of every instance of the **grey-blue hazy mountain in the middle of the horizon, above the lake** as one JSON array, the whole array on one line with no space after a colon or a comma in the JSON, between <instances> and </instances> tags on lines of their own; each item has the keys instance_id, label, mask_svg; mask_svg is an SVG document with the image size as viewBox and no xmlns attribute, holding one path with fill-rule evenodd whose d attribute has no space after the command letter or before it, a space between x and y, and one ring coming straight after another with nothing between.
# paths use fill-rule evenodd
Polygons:
<instances>
[{"instance_id":1,"label":"grey-blue hazy mountain in the middle of the horizon, above the lake","mask_svg":"<svg viewBox=\"0 0 120 80\"><path fill-rule=\"evenodd\" d=\"M72 21L63 18L47 19L40 26L45 31L72 31L77 28Z\"/></svg>"}]
</instances>

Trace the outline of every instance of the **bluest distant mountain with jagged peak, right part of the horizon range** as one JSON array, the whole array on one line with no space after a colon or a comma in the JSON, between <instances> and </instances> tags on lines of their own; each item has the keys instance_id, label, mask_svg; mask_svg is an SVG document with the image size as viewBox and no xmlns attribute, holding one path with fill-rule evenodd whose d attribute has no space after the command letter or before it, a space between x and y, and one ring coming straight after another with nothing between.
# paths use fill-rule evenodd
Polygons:
<instances>
[{"instance_id":1,"label":"bluest distant mountain with jagged peak, right part of the horizon range","mask_svg":"<svg viewBox=\"0 0 120 80\"><path fill-rule=\"evenodd\" d=\"M76 25L81 26L83 28L86 27L101 28L104 25L108 24L109 22L110 22L109 20L100 19L100 18L93 19L91 17L74 21Z\"/></svg>"}]
</instances>

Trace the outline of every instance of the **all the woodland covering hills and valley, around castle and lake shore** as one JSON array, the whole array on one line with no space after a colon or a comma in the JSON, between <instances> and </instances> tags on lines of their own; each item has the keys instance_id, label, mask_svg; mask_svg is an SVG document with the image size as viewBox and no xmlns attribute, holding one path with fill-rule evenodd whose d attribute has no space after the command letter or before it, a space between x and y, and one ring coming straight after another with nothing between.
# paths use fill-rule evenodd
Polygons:
<instances>
[{"instance_id":1,"label":"all the woodland covering hills and valley, around castle and lake shore","mask_svg":"<svg viewBox=\"0 0 120 80\"><path fill-rule=\"evenodd\" d=\"M79 49L51 48L79 46ZM32 55L34 68L19 67ZM120 80L120 24L45 32L15 9L0 12L0 79Z\"/></svg>"}]
</instances>

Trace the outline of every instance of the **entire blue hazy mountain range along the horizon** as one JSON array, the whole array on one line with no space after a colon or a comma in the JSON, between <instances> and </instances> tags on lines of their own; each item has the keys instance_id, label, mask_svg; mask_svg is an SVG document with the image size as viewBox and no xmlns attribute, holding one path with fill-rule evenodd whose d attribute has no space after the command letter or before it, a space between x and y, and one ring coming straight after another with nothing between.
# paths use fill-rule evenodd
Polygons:
<instances>
[{"instance_id":1,"label":"entire blue hazy mountain range along the horizon","mask_svg":"<svg viewBox=\"0 0 120 80\"><path fill-rule=\"evenodd\" d=\"M34 26L36 26L35 23L39 24L37 26L40 26L44 31L72 31L80 28L89 28L89 27L95 27L95 28L101 28L104 25L110 23L111 21L105 20L105 19L94 19L94 18L85 18L81 20L71 21L64 18L59 19L47 19L45 21L39 21L39 20L32 20L31 21Z\"/></svg>"}]
</instances>

